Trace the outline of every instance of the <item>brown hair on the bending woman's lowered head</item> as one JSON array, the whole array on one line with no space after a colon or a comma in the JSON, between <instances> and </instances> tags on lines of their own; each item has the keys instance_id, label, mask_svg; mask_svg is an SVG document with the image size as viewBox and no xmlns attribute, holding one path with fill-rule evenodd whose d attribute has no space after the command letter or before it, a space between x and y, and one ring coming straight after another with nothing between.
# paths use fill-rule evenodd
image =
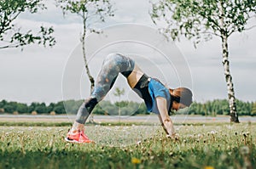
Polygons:
<instances>
[{"instance_id":1,"label":"brown hair on the bending woman's lowered head","mask_svg":"<svg viewBox=\"0 0 256 169\"><path fill-rule=\"evenodd\" d=\"M189 88L186 87L178 87L175 89L169 88L169 92L172 96L172 100L177 103L184 104L189 107L192 104L192 92Z\"/></svg>"}]
</instances>

